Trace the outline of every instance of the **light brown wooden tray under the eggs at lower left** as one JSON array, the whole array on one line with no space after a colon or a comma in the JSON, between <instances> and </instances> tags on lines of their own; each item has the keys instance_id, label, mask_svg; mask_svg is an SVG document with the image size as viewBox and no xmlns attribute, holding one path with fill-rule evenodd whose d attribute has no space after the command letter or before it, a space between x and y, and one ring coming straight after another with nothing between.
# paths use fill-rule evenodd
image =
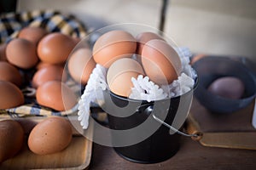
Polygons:
<instances>
[{"instance_id":1,"label":"light brown wooden tray under the eggs at lower left","mask_svg":"<svg viewBox=\"0 0 256 170\"><path fill-rule=\"evenodd\" d=\"M42 118L31 118L35 122ZM76 121L73 117L71 120ZM91 131L91 130L90 130ZM91 133L91 132L90 132ZM73 128L73 139L65 150L55 154L39 156L29 150L25 140L23 148L13 158L3 161L0 169L88 169L92 142Z\"/></svg>"}]
</instances>

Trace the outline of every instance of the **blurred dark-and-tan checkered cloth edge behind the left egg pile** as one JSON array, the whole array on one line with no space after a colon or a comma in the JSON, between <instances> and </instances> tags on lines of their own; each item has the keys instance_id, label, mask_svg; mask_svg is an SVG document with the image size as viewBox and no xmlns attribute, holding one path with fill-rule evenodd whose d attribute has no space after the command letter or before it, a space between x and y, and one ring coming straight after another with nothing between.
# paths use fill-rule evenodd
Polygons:
<instances>
[{"instance_id":1,"label":"blurred dark-and-tan checkered cloth edge behind the left egg pile","mask_svg":"<svg viewBox=\"0 0 256 170\"><path fill-rule=\"evenodd\" d=\"M49 32L62 32L72 37L86 36L86 27L73 15L54 10L7 13L0 15L0 43L17 37L26 26L42 27Z\"/></svg>"}]
</instances>

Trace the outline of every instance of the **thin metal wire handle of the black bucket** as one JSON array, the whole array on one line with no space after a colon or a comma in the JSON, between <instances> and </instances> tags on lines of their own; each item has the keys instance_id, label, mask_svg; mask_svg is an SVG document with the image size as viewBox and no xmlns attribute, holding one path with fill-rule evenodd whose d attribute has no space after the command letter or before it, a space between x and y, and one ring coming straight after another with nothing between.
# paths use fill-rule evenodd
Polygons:
<instances>
[{"instance_id":1,"label":"thin metal wire handle of the black bucket","mask_svg":"<svg viewBox=\"0 0 256 170\"><path fill-rule=\"evenodd\" d=\"M146 109L148 110L148 113L152 113L151 115L153 116L154 120L157 121L157 122L160 122L161 124L165 125L166 127L170 128L170 130L178 133L178 134L181 134L185 137L190 137L190 138L198 138L199 137L199 134L196 134L196 133L192 133L192 134L188 134L188 133L183 133L181 131L179 131L177 128L175 127L172 127L171 125L169 125L168 123L162 121L159 117L155 116L154 113L152 112L153 111L153 108L152 108L152 105L149 105L148 108Z\"/></svg>"}]
</instances>

